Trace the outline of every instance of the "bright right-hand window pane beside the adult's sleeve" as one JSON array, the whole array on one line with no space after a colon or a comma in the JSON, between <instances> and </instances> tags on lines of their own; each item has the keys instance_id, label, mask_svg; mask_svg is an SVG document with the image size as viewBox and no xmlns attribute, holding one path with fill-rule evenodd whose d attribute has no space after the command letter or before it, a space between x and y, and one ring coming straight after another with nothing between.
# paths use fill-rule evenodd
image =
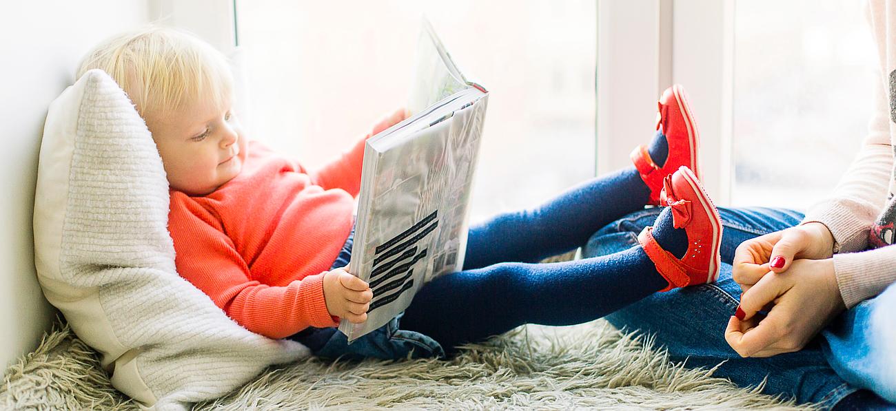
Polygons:
<instances>
[{"instance_id":1,"label":"bright right-hand window pane beside the adult's sleeve","mask_svg":"<svg viewBox=\"0 0 896 411\"><path fill-rule=\"evenodd\" d=\"M846 172L872 112L876 56L863 7L737 1L733 204L805 210Z\"/></svg>"}]
</instances>

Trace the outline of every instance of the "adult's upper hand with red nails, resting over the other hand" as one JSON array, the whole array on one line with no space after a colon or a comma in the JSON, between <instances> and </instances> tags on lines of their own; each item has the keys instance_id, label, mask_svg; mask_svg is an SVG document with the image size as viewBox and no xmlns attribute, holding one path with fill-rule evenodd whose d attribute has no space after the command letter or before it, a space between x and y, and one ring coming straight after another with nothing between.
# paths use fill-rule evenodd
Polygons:
<instances>
[{"instance_id":1,"label":"adult's upper hand with red nails, resting over the other hand","mask_svg":"<svg viewBox=\"0 0 896 411\"><path fill-rule=\"evenodd\" d=\"M746 240L737 246L731 277L746 292L768 272L784 272L797 259L823 260L833 255L834 237L812 222Z\"/></svg>"}]
</instances>

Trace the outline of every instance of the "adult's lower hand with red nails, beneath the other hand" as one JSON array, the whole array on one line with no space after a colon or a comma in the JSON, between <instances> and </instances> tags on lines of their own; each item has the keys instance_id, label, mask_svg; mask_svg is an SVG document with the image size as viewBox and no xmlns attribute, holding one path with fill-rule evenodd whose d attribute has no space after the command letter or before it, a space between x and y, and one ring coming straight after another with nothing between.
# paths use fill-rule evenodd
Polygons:
<instances>
[{"instance_id":1,"label":"adult's lower hand with red nails, beneath the other hand","mask_svg":"<svg viewBox=\"0 0 896 411\"><path fill-rule=\"evenodd\" d=\"M792 261L786 273L768 272L744 292L725 340L744 357L798 351L844 310L832 259Z\"/></svg>"}]
</instances>

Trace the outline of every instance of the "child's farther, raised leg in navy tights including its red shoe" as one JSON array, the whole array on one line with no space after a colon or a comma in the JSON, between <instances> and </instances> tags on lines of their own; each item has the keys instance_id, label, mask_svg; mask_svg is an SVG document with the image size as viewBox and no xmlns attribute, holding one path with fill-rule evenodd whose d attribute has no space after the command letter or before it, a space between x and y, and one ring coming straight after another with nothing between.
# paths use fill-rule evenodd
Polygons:
<instances>
[{"instance_id":1,"label":"child's farther, raised leg in navy tights including its red shoe","mask_svg":"<svg viewBox=\"0 0 896 411\"><path fill-rule=\"evenodd\" d=\"M610 221L646 204L659 205L663 180L679 167L700 176L698 148L685 91L679 85L670 87L659 99L656 135L649 146L632 153L635 167L580 184L538 208L504 213L470 227L463 268L537 262L584 244Z\"/></svg>"}]
</instances>

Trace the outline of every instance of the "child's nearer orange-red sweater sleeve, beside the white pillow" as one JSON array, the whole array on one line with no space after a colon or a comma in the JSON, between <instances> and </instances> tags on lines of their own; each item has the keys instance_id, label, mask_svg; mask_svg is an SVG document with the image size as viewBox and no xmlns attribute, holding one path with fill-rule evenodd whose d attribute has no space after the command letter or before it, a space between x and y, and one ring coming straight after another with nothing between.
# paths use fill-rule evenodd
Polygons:
<instances>
[{"instance_id":1,"label":"child's nearer orange-red sweater sleeve, beside the white pillow","mask_svg":"<svg viewBox=\"0 0 896 411\"><path fill-rule=\"evenodd\" d=\"M246 330L285 338L309 326L337 324L323 299L323 273L285 287L254 280L220 220L180 195L172 196L168 224L177 252L177 272Z\"/></svg>"}]
</instances>

